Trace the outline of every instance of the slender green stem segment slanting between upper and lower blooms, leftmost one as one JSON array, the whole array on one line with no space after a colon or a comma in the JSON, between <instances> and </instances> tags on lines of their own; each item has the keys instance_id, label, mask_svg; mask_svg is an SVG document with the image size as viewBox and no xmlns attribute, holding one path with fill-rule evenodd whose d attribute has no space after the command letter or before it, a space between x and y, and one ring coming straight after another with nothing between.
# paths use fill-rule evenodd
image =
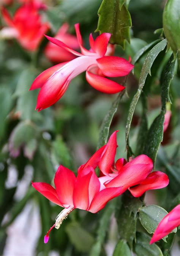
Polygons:
<instances>
[{"instance_id":1,"label":"slender green stem segment slanting between upper and lower blooms, leftmost one","mask_svg":"<svg viewBox=\"0 0 180 256\"><path fill-rule=\"evenodd\" d=\"M117 111L118 104L120 103L120 100L122 99L122 96L124 95L124 93L125 93L124 90L119 93L116 100L114 101L114 103L112 103L111 108L109 109L106 116L104 117L103 123L101 124L101 127L100 127L100 132L99 132L99 141L97 145L98 149L102 147L104 144L106 144L107 142L107 138L109 135L109 128L110 128L112 119L114 117L115 112Z\"/></svg>"}]
</instances>

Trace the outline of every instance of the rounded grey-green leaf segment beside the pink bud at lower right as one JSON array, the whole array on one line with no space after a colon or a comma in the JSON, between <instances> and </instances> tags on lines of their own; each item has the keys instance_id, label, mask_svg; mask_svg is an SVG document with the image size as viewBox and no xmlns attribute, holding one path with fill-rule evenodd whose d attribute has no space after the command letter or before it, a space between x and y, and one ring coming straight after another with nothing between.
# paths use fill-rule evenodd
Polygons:
<instances>
[{"instance_id":1,"label":"rounded grey-green leaf segment beside the pink bud at lower right","mask_svg":"<svg viewBox=\"0 0 180 256\"><path fill-rule=\"evenodd\" d=\"M158 205L148 205L140 208L139 220L148 233L155 232L159 222L168 212ZM176 232L175 228L172 232ZM167 237L167 236L166 236ZM163 239L166 242L166 237Z\"/></svg>"}]
</instances>

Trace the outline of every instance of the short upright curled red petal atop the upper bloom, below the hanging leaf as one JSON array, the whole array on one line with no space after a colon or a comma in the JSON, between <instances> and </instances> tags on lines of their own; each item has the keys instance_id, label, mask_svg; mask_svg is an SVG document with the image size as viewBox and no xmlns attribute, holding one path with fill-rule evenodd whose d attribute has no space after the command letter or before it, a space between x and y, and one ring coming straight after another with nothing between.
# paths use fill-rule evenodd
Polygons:
<instances>
[{"instance_id":1,"label":"short upright curled red petal atop the upper bloom, below the hanging leaf","mask_svg":"<svg viewBox=\"0 0 180 256\"><path fill-rule=\"evenodd\" d=\"M99 57L103 57L107 51L107 44L111 37L110 33L102 33L97 36L94 42L94 51L99 55Z\"/></svg>"}]
</instances>

